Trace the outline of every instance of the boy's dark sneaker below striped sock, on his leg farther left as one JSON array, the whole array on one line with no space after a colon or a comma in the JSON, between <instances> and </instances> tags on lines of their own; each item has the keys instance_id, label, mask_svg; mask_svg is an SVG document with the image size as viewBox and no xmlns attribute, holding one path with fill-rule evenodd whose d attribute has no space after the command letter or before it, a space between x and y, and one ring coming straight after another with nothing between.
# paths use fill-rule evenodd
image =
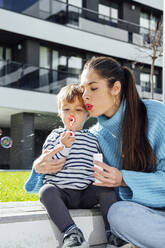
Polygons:
<instances>
[{"instance_id":1,"label":"boy's dark sneaker below striped sock, on his leg farther left","mask_svg":"<svg viewBox=\"0 0 165 248\"><path fill-rule=\"evenodd\" d=\"M81 230L74 228L64 235L62 248L89 248Z\"/></svg>"}]
</instances>

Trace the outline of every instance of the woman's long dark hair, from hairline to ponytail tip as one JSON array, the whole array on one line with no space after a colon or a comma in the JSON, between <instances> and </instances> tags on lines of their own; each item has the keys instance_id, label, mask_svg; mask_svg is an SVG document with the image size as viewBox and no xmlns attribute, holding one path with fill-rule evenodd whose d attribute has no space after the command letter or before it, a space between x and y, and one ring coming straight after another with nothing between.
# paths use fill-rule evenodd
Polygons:
<instances>
[{"instance_id":1,"label":"woman's long dark hair, from hairline to ponytail tip","mask_svg":"<svg viewBox=\"0 0 165 248\"><path fill-rule=\"evenodd\" d=\"M122 67L111 57L97 57L87 61L84 69L93 69L112 88L116 81L121 83L121 99L126 99L122 127L123 169L142 172L155 170L156 158L147 138L148 117L145 104L136 89L131 70Z\"/></svg>"}]
</instances>

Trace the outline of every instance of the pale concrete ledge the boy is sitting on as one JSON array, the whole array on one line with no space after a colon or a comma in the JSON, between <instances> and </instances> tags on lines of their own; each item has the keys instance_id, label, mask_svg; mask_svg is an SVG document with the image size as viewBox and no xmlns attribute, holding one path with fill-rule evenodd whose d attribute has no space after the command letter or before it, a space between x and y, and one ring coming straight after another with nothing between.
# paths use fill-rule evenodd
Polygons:
<instances>
[{"instance_id":1,"label":"pale concrete ledge the boy is sitting on","mask_svg":"<svg viewBox=\"0 0 165 248\"><path fill-rule=\"evenodd\" d=\"M91 246L106 243L99 209L70 210ZM60 248L62 235L39 201L0 203L0 237L3 248Z\"/></svg>"}]
</instances>

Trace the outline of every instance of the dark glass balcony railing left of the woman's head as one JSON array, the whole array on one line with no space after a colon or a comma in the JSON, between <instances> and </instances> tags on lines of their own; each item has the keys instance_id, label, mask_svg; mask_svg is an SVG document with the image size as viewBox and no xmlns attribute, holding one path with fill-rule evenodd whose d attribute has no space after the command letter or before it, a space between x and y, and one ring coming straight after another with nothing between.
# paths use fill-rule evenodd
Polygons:
<instances>
[{"instance_id":1,"label":"dark glass balcony railing left of the woman's head","mask_svg":"<svg viewBox=\"0 0 165 248\"><path fill-rule=\"evenodd\" d=\"M65 85L78 82L79 75L70 72L0 60L0 87L58 94Z\"/></svg>"}]
</instances>

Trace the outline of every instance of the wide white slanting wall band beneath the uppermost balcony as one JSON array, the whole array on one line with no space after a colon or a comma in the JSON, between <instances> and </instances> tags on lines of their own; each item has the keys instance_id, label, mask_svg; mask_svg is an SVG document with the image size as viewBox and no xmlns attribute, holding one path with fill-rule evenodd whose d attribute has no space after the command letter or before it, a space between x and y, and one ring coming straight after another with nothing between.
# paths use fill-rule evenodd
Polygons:
<instances>
[{"instance_id":1,"label":"wide white slanting wall band beneath the uppermost balcony","mask_svg":"<svg viewBox=\"0 0 165 248\"><path fill-rule=\"evenodd\" d=\"M0 9L0 23L1 29L9 32L15 32L95 53L151 64L150 57L146 56L148 49L139 49L138 46L128 42L94 34L92 33L92 27L91 32L86 32L4 9ZM157 59L155 65L162 67L162 59Z\"/></svg>"}]
</instances>

